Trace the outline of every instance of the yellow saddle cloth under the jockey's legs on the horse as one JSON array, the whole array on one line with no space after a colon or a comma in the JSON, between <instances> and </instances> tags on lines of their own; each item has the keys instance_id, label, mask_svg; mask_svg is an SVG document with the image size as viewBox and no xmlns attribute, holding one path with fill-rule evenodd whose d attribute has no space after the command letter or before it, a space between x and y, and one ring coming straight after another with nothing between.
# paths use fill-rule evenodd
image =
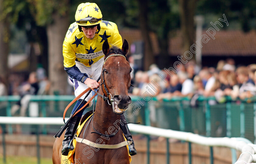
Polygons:
<instances>
[{"instance_id":1,"label":"yellow saddle cloth under the jockey's legs on the horse","mask_svg":"<svg viewBox=\"0 0 256 164\"><path fill-rule=\"evenodd\" d=\"M84 127L84 124L87 122L88 119L91 118L91 116L92 116L92 114L81 125L80 124L78 125L77 131L76 131L76 136L79 136L81 130ZM125 141L127 141L124 135L123 135L123 137L124 137ZM76 150L76 139L73 139L72 142L73 142L73 146L74 146L75 149L69 151L68 156L63 156L63 155L61 156L61 164L74 164L75 163L74 155L75 155L75 150ZM132 161L132 157L129 154L129 147L128 147L128 145L126 145L126 148L127 148L128 155L129 155L129 161L131 162Z\"/></svg>"}]
</instances>

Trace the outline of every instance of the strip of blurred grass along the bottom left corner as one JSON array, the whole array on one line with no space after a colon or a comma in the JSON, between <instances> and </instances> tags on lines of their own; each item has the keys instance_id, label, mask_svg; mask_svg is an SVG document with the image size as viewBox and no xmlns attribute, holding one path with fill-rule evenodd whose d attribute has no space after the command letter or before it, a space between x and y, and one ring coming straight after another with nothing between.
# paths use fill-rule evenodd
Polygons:
<instances>
[{"instance_id":1,"label":"strip of blurred grass along the bottom left corner","mask_svg":"<svg viewBox=\"0 0 256 164\"><path fill-rule=\"evenodd\" d=\"M0 156L0 163L3 164L37 164L36 157L7 156L6 163L3 162L3 156ZM52 158L41 158L41 164L52 164Z\"/></svg>"}]
</instances>

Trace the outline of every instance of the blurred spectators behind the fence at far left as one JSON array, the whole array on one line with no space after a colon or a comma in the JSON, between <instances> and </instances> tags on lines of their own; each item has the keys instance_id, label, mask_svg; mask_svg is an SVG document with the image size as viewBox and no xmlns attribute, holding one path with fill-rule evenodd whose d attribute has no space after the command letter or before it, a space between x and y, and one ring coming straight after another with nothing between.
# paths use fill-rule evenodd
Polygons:
<instances>
[{"instance_id":1,"label":"blurred spectators behind the fence at far left","mask_svg":"<svg viewBox=\"0 0 256 164\"><path fill-rule=\"evenodd\" d=\"M8 83L8 85L6 85ZM8 87L7 87L8 86ZM31 95L46 95L49 93L50 82L42 67L29 74L10 74L8 79L0 77L0 96L19 95L20 100L12 105L11 114L25 116ZM20 109L20 110L19 110ZM18 114L17 112L20 111Z\"/></svg>"}]
</instances>

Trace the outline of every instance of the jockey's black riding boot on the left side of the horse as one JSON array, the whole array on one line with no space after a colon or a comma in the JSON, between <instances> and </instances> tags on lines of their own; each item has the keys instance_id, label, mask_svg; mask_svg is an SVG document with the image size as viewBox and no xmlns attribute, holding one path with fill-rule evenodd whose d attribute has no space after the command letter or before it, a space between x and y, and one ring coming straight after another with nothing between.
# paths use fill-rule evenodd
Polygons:
<instances>
[{"instance_id":1,"label":"jockey's black riding boot on the left side of the horse","mask_svg":"<svg viewBox=\"0 0 256 164\"><path fill-rule=\"evenodd\" d=\"M65 132L65 139L62 141L62 150L61 153L64 156L67 156L70 150L74 149L74 146L72 142L70 143L71 139L73 139L73 136L76 132L76 128L80 122L80 117L77 117L76 115L71 119L69 122L69 126L66 129ZM70 145L69 145L70 143Z\"/></svg>"}]
</instances>

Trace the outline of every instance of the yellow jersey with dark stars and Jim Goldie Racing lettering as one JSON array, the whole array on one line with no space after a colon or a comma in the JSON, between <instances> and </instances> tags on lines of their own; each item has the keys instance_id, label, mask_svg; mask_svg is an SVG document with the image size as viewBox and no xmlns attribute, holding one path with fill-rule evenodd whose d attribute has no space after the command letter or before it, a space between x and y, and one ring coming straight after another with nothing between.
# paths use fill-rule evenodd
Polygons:
<instances>
[{"instance_id":1,"label":"yellow jersey with dark stars and Jim Goldie Racing lettering","mask_svg":"<svg viewBox=\"0 0 256 164\"><path fill-rule=\"evenodd\" d=\"M90 67L104 57L102 44L106 39L110 47L122 47L122 37L115 23L101 21L100 26L100 32L95 34L93 39L87 38L83 32L80 32L76 22L69 26L63 43L64 67L73 67L76 64L75 61Z\"/></svg>"}]
</instances>

